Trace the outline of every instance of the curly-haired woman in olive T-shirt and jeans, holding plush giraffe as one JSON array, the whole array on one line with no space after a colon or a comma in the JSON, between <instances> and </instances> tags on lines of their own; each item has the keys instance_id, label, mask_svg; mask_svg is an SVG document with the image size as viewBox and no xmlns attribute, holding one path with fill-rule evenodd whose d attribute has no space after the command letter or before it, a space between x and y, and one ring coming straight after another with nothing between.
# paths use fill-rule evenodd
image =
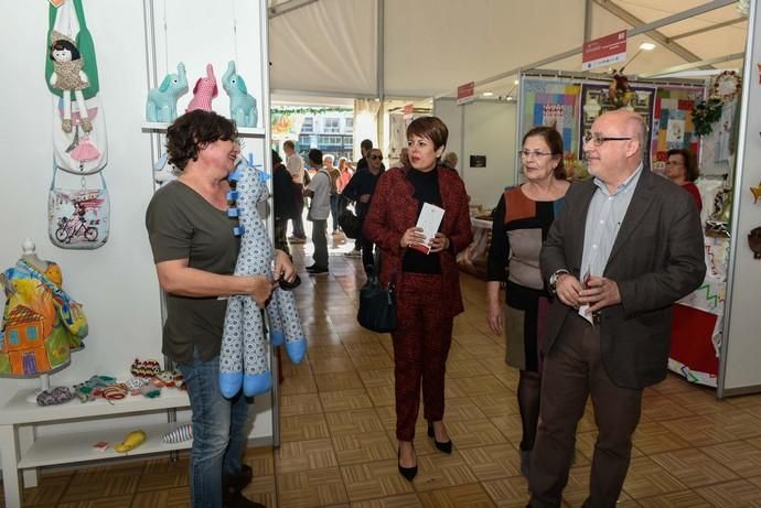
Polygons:
<instances>
[{"instance_id":1,"label":"curly-haired woman in olive T-shirt and jeans, holding plush giraffe","mask_svg":"<svg viewBox=\"0 0 761 508\"><path fill-rule=\"evenodd\" d=\"M264 306L276 284L266 277L232 275L240 247L236 221L227 215L227 177L240 152L236 137L235 125L213 111L178 118L167 131L167 150L181 174L153 195L146 214L167 294L162 352L178 364L193 411L191 498L204 508L261 506L240 494L250 479L250 468L242 465L249 401L242 393L225 399L218 385L227 306L221 298L248 294ZM275 277L293 281L288 255L276 252Z\"/></svg>"}]
</instances>

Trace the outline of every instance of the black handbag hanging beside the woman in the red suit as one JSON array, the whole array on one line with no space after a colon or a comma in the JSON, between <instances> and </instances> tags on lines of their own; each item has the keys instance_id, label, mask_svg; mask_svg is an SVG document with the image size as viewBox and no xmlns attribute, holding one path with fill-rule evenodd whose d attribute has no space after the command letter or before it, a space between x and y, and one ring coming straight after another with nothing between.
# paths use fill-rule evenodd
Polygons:
<instances>
[{"instance_id":1,"label":"black handbag hanging beside the woman in the red suit","mask_svg":"<svg viewBox=\"0 0 761 508\"><path fill-rule=\"evenodd\" d=\"M378 249L379 250L379 249ZM375 266L365 267L367 282L360 290L360 311L356 321L364 328L377 333L389 333L396 329L396 300L394 284L382 287L378 281L380 257L375 253Z\"/></svg>"}]
</instances>

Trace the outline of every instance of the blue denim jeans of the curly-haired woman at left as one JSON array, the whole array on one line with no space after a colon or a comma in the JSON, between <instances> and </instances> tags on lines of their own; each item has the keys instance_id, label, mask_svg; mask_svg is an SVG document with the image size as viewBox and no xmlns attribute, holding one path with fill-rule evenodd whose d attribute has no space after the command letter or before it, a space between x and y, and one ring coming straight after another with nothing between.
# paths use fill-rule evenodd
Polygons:
<instances>
[{"instance_id":1,"label":"blue denim jeans of the curly-haired woman at left","mask_svg":"<svg viewBox=\"0 0 761 508\"><path fill-rule=\"evenodd\" d=\"M251 407L243 392L227 400L219 391L219 357L180 364L193 411L190 460L191 501L221 508L223 478L240 473Z\"/></svg>"}]
</instances>

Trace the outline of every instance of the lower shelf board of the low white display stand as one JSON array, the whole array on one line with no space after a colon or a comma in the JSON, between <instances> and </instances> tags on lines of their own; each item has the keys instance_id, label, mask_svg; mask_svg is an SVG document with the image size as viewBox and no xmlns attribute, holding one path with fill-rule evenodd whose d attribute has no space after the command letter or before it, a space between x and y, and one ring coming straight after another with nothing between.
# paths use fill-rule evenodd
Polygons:
<instances>
[{"instance_id":1,"label":"lower shelf board of the low white display stand","mask_svg":"<svg viewBox=\"0 0 761 508\"><path fill-rule=\"evenodd\" d=\"M52 466L61 464L62 462L69 464L75 462L101 461L105 458L124 458L127 456L190 448L193 444L192 441L172 444L167 444L161 441L161 435L164 432L171 431L179 425L181 425L181 423L154 423L140 426L131 425L90 432L78 432L63 436L37 437L32 447L23 452L18 467L19 469L26 469L30 467ZM146 432L146 441L143 441L142 444L127 453L119 453L114 450L117 444L121 443L128 433L137 430ZM94 448L93 445L99 441L107 442L109 444L108 448L105 451Z\"/></svg>"}]
</instances>

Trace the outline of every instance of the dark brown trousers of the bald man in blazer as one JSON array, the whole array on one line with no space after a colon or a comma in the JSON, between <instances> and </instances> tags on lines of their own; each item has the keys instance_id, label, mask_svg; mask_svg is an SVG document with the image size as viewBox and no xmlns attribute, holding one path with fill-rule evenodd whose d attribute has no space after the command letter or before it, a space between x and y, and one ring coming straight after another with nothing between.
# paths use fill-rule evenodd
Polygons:
<instances>
[{"instance_id":1,"label":"dark brown trousers of the bald man in blazer","mask_svg":"<svg viewBox=\"0 0 761 508\"><path fill-rule=\"evenodd\" d=\"M532 456L529 506L560 507L587 397L599 435L585 506L614 507L629 471L632 434L640 422L642 390L621 388L602 365L600 327L569 314L545 356L540 422Z\"/></svg>"}]
</instances>

